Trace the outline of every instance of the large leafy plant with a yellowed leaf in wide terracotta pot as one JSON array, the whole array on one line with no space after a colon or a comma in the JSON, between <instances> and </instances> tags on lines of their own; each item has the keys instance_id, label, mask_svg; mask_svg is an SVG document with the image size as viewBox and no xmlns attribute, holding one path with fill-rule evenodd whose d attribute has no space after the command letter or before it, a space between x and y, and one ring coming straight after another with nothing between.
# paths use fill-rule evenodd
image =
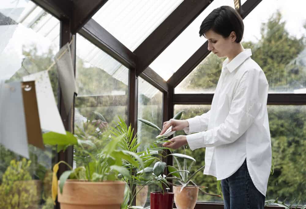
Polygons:
<instances>
[{"instance_id":1,"label":"large leafy plant with a yellowed leaf in wide terracotta pot","mask_svg":"<svg viewBox=\"0 0 306 209\"><path fill-rule=\"evenodd\" d=\"M90 130L95 130L95 127L90 125L88 127ZM66 135L54 132L43 134L44 143L58 145L58 152L74 145L83 154L82 158L79 158L82 160L81 163L74 170L64 161L54 165L53 200L58 194L58 202L62 209L119 209L123 202L125 182L120 181L118 175L130 176L129 171L123 167L122 159L136 167L143 167L142 160L132 152L117 149L123 135L115 137L111 131L105 130L91 135L88 139L86 133L81 134L77 136L69 132ZM58 181L56 174L60 163L66 164L71 170L65 171Z\"/></svg>"}]
</instances>

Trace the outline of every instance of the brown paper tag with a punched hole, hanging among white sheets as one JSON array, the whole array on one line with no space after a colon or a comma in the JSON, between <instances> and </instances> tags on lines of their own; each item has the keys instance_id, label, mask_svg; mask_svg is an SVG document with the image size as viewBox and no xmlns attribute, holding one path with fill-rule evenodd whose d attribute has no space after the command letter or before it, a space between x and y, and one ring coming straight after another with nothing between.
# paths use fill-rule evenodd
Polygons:
<instances>
[{"instance_id":1,"label":"brown paper tag with a punched hole, hanging among white sheets","mask_svg":"<svg viewBox=\"0 0 306 209\"><path fill-rule=\"evenodd\" d=\"M27 81L21 83L28 144L34 145L40 149L45 149L40 128L35 81Z\"/></svg>"}]
</instances>

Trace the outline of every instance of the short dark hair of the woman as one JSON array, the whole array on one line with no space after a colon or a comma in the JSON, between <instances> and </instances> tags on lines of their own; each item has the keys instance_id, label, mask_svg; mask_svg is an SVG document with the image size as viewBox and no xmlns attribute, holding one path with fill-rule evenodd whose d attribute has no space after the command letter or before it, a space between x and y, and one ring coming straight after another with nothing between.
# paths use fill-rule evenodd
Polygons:
<instances>
[{"instance_id":1,"label":"short dark hair of the woman","mask_svg":"<svg viewBox=\"0 0 306 209\"><path fill-rule=\"evenodd\" d=\"M202 22L200 26L199 34L204 35L209 30L223 36L223 38L229 37L232 31L236 33L235 42L241 42L244 24L239 13L230 6L220 6L214 9Z\"/></svg>"}]
</instances>

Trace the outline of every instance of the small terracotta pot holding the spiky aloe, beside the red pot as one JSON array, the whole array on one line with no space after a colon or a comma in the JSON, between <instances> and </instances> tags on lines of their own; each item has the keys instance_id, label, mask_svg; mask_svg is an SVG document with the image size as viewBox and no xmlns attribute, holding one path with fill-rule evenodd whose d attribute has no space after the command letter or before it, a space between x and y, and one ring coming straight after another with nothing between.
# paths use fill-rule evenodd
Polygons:
<instances>
[{"instance_id":1,"label":"small terracotta pot holding the spiky aloe, beside the red pot","mask_svg":"<svg viewBox=\"0 0 306 209\"><path fill-rule=\"evenodd\" d=\"M181 192L181 186L174 186L174 202L177 209L193 209L198 199L199 188L187 186Z\"/></svg>"}]
</instances>

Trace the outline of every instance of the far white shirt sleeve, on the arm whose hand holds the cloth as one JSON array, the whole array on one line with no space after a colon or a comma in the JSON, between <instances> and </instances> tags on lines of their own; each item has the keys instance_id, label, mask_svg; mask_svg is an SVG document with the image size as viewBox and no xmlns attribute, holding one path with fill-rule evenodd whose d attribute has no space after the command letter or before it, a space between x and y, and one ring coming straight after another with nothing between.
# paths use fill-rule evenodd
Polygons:
<instances>
[{"instance_id":1,"label":"far white shirt sleeve, on the arm whose hand holds the cloth","mask_svg":"<svg viewBox=\"0 0 306 209\"><path fill-rule=\"evenodd\" d=\"M186 134L192 134L195 132L206 131L208 127L208 121L210 117L210 110L200 116L187 119L189 127L184 128Z\"/></svg>"}]
</instances>

